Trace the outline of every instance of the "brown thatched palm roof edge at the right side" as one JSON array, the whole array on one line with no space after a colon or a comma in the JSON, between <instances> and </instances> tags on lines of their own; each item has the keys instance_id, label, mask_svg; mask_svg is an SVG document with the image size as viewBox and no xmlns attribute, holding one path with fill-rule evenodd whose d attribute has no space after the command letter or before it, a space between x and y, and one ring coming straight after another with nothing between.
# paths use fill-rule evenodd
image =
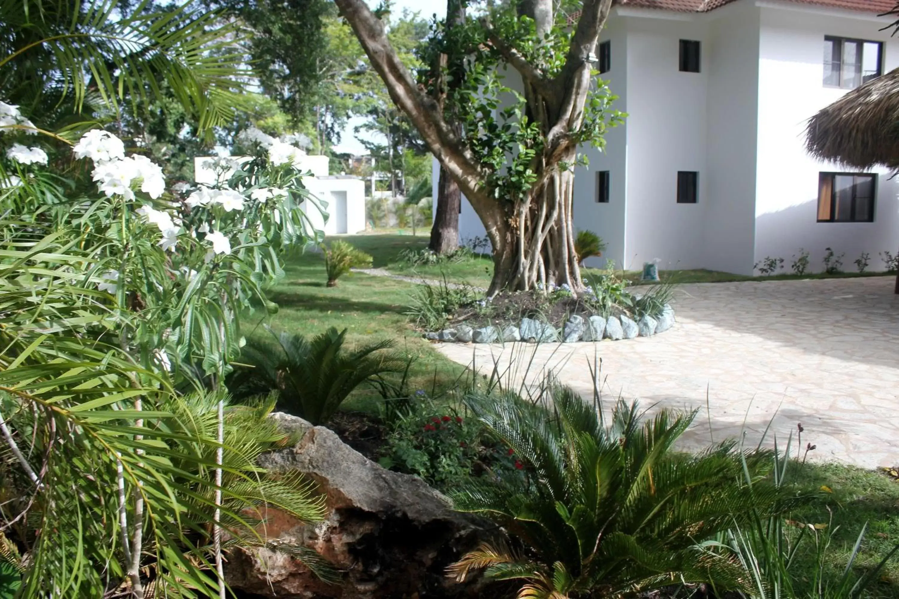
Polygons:
<instances>
[{"instance_id":1,"label":"brown thatched palm roof edge at the right side","mask_svg":"<svg viewBox=\"0 0 899 599\"><path fill-rule=\"evenodd\" d=\"M860 85L809 119L806 149L821 160L899 171L899 68Z\"/></svg>"}]
</instances>

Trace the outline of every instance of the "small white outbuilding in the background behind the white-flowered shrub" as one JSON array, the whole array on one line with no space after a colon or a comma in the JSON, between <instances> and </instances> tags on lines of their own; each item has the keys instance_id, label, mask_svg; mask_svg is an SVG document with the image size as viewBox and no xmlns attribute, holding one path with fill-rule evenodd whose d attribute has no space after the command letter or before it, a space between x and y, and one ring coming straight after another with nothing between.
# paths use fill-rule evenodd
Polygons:
<instances>
[{"instance_id":1,"label":"small white outbuilding in the background behind the white-flowered shrub","mask_svg":"<svg viewBox=\"0 0 899 599\"><path fill-rule=\"evenodd\" d=\"M238 162L249 160L247 156L229 158ZM216 184L216 172L211 167L213 161L213 156L193 159L194 179L198 183ZM328 161L327 156L307 155L298 166L300 171L312 173L310 177L303 177L303 184L312 196L327 204L327 220L308 200L302 204L303 211L312 225L324 231L325 235L365 231L365 181L350 175L329 175ZM231 172L224 173L223 180L227 180L230 175Z\"/></svg>"}]
</instances>

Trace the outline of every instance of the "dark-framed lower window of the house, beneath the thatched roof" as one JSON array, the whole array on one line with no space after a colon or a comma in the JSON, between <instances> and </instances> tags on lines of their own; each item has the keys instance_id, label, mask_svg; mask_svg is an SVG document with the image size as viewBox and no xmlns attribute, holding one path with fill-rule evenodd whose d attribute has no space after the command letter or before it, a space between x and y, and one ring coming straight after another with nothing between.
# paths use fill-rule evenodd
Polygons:
<instances>
[{"instance_id":1,"label":"dark-framed lower window of the house, beneath the thatched roof","mask_svg":"<svg viewBox=\"0 0 899 599\"><path fill-rule=\"evenodd\" d=\"M822 172L818 177L819 223L873 223L877 175Z\"/></svg>"}]
</instances>

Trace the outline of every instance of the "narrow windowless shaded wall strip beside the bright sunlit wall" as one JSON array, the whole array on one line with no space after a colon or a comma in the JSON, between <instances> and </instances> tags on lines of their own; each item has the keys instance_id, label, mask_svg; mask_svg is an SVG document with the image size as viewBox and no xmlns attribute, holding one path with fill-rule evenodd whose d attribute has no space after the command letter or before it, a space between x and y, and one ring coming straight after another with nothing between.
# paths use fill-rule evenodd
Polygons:
<instances>
[{"instance_id":1,"label":"narrow windowless shaded wall strip beside the bright sunlit wall","mask_svg":"<svg viewBox=\"0 0 899 599\"><path fill-rule=\"evenodd\" d=\"M755 242L760 9L739 2L708 18L708 170L699 264L749 275Z\"/></svg>"}]
</instances>

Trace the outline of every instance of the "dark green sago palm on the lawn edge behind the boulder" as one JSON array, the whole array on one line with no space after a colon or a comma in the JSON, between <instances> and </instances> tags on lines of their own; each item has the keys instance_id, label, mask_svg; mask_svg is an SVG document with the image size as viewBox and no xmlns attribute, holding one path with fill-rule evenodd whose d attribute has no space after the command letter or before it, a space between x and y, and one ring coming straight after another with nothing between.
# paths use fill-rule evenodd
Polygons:
<instances>
[{"instance_id":1,"label":"dark green sago palm on the lawn edge behind the boulder","mask_svg":"<svg viewBox=\"0 0 899 599\"><path fill-rule=\"evenodd\" d=\"M314 425L325 424L361 383L405 368L402 357L382 352L393 347L392 340L345 351L346 332L331 327L312 339L281 333L277 344L251 341L241 362L252 368L237 372L229 386L237 397L276 390L280 408Z\"/></svg>"}]
</instances>

